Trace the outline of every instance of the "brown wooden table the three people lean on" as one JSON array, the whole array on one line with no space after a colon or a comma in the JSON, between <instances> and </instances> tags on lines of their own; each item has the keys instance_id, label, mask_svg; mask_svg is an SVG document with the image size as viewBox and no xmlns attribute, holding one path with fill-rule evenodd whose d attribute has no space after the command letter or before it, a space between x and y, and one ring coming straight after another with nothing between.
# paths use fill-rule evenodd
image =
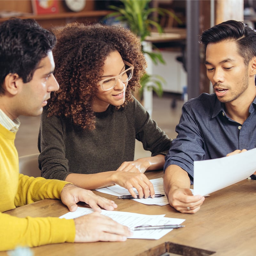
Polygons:
<instances>
[{"instance_id":1,"label":"brown wooden table the three people lean on","mask_svg":"<svg viewBox=\"0 0 256 256\"><path fill-rule=\"evenodd\" d=\"M149 172L149 179L163 176L163 172ZM97 242L87 244L52 244L32 248L35 256L51 255L256 255L256 181L243 180L212 193L205 198L199 212L182 214L170 205L145 205L132 200L114 199L118 211L143 214L166 214L166 217L186 219L184 228L174 229L159 240L127 239L126 242ZM68 212L59 200L46 199L8 211L18 217L60 216ZM0 256L7 255L0 252Z\"/></svg>"}]
</instances>

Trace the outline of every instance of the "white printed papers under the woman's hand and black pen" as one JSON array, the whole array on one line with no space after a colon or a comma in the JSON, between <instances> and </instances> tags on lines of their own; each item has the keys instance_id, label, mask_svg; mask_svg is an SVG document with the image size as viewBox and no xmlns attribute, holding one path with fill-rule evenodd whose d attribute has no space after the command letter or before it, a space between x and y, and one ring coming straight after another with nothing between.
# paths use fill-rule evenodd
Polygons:
<instances>
[{"instance_id":1,"label":"white printed papers under the woman's hand and black pen","mask_svg":"<svg viewBox=\"0 0 256 256\"><path fill-rule=\"evenodd\" d=\"M158 198L146 198L146 199L145 198L141 198L141 199L134 198L131 200L137 201L142 204L156 204L156 205L169 204L168 198L167 198L166 194L164 193L164 179L158 178L158 179L153 179L150 181L152 182L152 184L154 186L155 194L162 194L164 196L158 197ZM123 188L119 185L110 186L107 188L99 188L96 190L99 192L105 193L105 194L113 195L113 196L131 195L130 192L128 191L128 189ZM133 188L133 190L138 195L138 191L135 188ZM118 199L118 200L129 200L129 199Z\"/></svg>"}]
</instances>

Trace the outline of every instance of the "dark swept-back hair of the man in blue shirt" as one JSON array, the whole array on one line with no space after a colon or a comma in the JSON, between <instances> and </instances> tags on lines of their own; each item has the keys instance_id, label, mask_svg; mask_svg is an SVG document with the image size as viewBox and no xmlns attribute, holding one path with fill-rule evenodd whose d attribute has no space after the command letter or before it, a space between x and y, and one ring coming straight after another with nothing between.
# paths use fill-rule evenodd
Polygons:
<instances>
[{"instance_id":1,"label":"dark swept-back hair of the man in blue shirt","mask_svg":"<svg viewBox=\"0 0 256 256\"><path fill-rule=\"evenodd\" d=\"M256 56L256 31L245 25L243 21L227 20L205 30L199 42L204 45L217 43L223 40L234 40L238 53L244 58L245 65Z\"/></svg>"}]
</instances>

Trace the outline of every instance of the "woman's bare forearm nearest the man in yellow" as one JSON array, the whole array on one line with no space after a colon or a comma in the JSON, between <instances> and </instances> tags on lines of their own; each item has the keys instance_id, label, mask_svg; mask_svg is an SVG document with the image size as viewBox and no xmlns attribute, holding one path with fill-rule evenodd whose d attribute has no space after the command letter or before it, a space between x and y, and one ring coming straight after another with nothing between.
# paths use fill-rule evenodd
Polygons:
<instances>
[{"instance_id":1,"label":"woman's bare forearm nearest the man in yellow","mask_svg":"<svg viewBox=\"0 0 256 256\"><path fill-rule=\"evenodd\" d=\"M65 181L71 182L77 187L85 189L97 189L113 185L116 171L99 172L93 174L70 173Z\"/></svg>"}]
</instances>

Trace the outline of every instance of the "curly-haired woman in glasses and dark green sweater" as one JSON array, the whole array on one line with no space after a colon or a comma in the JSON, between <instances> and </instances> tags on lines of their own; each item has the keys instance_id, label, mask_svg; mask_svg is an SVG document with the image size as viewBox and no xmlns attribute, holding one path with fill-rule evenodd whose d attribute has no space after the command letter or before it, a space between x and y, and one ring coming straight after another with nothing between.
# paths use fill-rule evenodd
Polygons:
<instances>
[{"instance_id":1,"label":"curly-haired woman in glasses and dark green sweater","mask_svg":"<svg viewBox=\"0 0 256 256\"><path fill-rule=\"evenodd\" d=\"M54 31L54 76L60 89L44 109L39 167L47 179L87 189L112 184L154 197L144 174L163 169L171 139L132 96L147 66L128 29L73 23ZM135 139L150 157L134 161Z\"/></svg>"}]
</instances>

